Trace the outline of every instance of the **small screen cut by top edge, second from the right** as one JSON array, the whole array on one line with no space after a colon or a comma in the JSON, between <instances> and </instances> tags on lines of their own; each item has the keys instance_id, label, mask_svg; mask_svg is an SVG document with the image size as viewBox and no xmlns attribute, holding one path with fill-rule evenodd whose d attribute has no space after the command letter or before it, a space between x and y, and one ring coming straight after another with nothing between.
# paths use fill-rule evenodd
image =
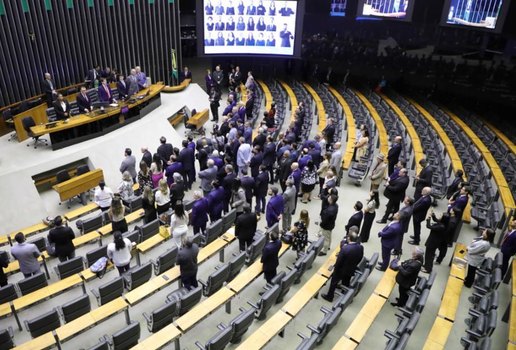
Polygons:
<instances>
[{"instance_id":1,"label":"small screen cut by top edge, second from the right","mask_svg":"<svg viewBox=\"0 0 516 350\"><path fill-rule=\"evenodd\" d=\"M412 20L415 0L360 0L357 16Z\"/></svg>"}]
</instances>

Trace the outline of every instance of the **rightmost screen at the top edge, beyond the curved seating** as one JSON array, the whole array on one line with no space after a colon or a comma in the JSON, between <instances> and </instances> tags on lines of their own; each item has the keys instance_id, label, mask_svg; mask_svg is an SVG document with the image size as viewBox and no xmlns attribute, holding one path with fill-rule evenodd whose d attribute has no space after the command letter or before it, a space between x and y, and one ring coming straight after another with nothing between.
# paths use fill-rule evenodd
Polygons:
<instances>
[{"instance_id":1,"label":"rightmost screen at the top edge, beyond the curved seating","mask_svg":"<svg viewBox=\"0 0 516 350\"><path fill-rule=\"evenodd\" d=\"M501 31L510 0L447 0L441 24Z\"/></svg>"}]
</instances>

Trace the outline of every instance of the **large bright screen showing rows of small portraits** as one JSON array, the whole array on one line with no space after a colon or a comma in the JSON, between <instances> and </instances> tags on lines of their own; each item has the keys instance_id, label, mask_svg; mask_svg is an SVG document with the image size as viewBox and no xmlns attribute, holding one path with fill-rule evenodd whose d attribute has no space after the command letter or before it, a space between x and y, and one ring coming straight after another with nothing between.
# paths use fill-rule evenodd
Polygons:
<instances>
[{"instance_id":1,"label":"large bright screen showing rows of small portraits","mask_svg":"<svg viewBox=\"0 0 516 350\"><path fill-rule=\"evenodd\" d=\"M293 55L297 1L204 1L205 54Z\"/></svg>"}]
</instances>

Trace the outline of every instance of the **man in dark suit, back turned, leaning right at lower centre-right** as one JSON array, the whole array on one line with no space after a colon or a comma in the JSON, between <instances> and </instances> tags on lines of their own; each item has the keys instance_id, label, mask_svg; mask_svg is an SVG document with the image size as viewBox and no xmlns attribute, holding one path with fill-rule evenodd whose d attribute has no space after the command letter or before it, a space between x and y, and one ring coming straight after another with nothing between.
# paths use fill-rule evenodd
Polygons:
<instances>
[{"instance_id":1,"label":"man in dark suit, back turned, leaning right at lower centre-right","mask_svg":"<svg viewBox=\"0 0 516 350\"><path fill-rule=\"evenodd\" d=\"M333 275L328 292L321 295L324 300L329 302L333 301L335 288L337 288L339 282L342 281L345 287L349 287L351 277L353 277L358 263L364 256L364 247L358 242L356 232L350 232L347 237L348 242L343 242L339 255L337 255L337 261L333 266Z\"/></svg>"}]
</instances>

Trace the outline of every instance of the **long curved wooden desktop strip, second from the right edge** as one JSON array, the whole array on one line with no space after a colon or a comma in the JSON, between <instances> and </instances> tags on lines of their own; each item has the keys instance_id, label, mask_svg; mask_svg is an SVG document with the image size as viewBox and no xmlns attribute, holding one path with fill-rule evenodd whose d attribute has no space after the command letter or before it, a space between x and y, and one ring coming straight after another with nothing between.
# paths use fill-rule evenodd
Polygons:
<instances>
[{"instance_id":1,"label":"long curved wooden desktop strip, second from the right edge","mask_svg":"<svg viewBox=\"0 0 516 350\"><path fill-rule=\"evenodd\" d=\"M515 208L514 197L512 196L511 189L509 188L509 184L503 175L502 170L498 166L498 163L494 159L493 155L487 148L487 146L480 140L480 138L475 134L473 130L456 114L450 111L447 108L443 108L443 111L450 116L451 119L464 131L466 135L471 139L471 141L478 148L482 156L484 157L489 169L491 169L493 173L493 178L495 180L496 185L498 186L498 190L500 191L500 198L502 199L502 204L505 208L505 215L509 215L511 209Z\"/></svg>"}]
</instances>

